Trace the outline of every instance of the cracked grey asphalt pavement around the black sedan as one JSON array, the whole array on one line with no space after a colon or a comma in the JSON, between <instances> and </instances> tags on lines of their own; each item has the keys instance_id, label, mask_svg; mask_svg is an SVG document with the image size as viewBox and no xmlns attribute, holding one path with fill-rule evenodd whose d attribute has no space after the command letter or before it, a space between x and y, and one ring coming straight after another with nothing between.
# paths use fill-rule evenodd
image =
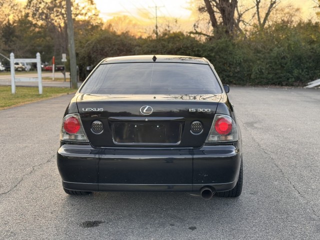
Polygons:
<instances>
[{"instance_id":1,"label":"cracked grey asphalt pavement around the black sedan","mask_svg":"<svg viewBox=\"0 0 320 240\"><path fill-rule=\"evenodd\" d=\"M1 239L319 239L320 90L230 87L243 137L238 198L63 192L56 167L72 96L0 110Z\"/></svg>"}]
</instances>

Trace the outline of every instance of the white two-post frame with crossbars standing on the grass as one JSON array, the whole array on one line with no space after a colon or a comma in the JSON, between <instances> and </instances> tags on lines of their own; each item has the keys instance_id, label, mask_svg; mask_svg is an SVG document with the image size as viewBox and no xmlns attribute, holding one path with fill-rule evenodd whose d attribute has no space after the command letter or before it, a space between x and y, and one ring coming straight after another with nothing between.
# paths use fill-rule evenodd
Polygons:
<instances>
[{"instance_id":1,"label":"white two-post frame with crossbars standing on the grass","mask_svg":"<svg viewBox=\"0 0 320 240\"><path fill-rule=\"evenodd\" d=\"M24 77L15 78L14 62L36 62L36 70L38 73L37 78ZM10 71L11 71L11 93L15 93L15 82L16 81L38 81L39 94L42 94L42 77L41 77L41 58L40 53L36 53L36 58L15 58L13 52L10 53Z\"/></svg>"}]
</instances>

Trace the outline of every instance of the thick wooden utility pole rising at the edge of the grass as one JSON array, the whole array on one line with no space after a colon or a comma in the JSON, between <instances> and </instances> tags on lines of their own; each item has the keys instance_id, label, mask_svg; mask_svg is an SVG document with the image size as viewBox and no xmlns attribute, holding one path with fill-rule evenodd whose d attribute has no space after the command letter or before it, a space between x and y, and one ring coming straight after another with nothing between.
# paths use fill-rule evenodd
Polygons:
<instances>
[{"instance_id":1,"label":"thick wooden utility pole rising at the edge of the grass","mask_svg":"<svg viewBox=\"0 0 320 240\"><path fill-rule=\"evenodd\" d=\"M71 12L71 1L66 0L66 19L67 19L67 32L69 43L69 56L70 56L70 81L71 88L77 89L77 77L76 77L76 58L75 58L75 45L74 45L74 33L73 33L73 20Z\"/></svg>"}]
</instances>

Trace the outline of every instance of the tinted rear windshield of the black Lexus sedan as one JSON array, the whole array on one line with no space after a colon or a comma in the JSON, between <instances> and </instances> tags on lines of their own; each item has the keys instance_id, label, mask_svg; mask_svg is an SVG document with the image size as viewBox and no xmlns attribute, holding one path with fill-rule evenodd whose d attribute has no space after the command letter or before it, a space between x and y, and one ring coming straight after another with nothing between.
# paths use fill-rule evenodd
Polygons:
<instances>
[{"instance_id":1,"label":"tinted rear windshield of the black Lexus sedan","mask_svg":"<svg viewBox=\"0 0 320 240\"><path fill-rule=\"evenodd\" d=\"M221 88L205 64L134 62L101 64L81 93L215 94Z\"/></svg>"}]
</instances>

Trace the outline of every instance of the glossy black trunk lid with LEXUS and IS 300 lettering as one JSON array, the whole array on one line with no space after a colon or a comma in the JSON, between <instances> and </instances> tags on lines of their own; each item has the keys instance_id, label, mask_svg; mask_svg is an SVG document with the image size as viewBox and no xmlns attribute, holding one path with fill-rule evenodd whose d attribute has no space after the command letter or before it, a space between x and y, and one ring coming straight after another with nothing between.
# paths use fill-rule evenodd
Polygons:
<instances>
[{"instance_id":1,"label":"glossy black trunk lid with LEXUS and IS 300 lettering","mask_svg":"<svg viewBox=\"0 0 320 240\"><path fill-rule=\"evenodd\" d=\"M93 147L200 147L212 124L221 94L79 94L77 107ZM93 121L102 122L99 134ZM202 125L199 133L190 130Z\"/></svg>"}]
</instances>

